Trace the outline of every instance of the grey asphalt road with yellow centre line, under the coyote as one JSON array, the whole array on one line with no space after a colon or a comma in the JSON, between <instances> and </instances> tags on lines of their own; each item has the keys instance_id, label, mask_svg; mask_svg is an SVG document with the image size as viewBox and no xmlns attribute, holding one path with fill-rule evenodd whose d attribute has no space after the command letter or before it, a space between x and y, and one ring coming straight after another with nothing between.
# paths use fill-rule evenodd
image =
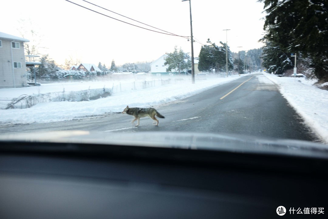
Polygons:
<instances>
[{"instance_id":1,"label":"grey asphalt road with yellow centre line, under the coyote","mask_svg":"<svg viewBox=\"0 0 328 219\"><path fill-rule=\"evenodd\" d=\"M159 126L154 126L149 118L141 118L140 125L135 127L131 124L132 116L113 113L66 122L0 127L0 133L181 131L316 140L281 96L277 86L261 74L240 77L195 96L154 107L165 116L165 119L158 119Z\"/></svg>"}]
</instances>

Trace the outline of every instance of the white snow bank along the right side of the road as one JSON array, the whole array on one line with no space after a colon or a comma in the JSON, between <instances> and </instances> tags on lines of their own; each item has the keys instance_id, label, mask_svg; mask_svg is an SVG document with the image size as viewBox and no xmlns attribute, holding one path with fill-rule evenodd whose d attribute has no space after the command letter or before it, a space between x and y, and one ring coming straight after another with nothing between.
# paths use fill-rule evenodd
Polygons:
<instances>
[{"instance_id":1,"label":"white snow bank along the right side of the road","mask_svg":"<svg viewBox=\"0 0 328 219\"><path fill-rule=\"evenodd\" d=\"M304 78L264 75L279 86L280 93L318 137L328 143L328 91ZM299 82L300 81L300 82Z\"/></svg>"}]
</instances>

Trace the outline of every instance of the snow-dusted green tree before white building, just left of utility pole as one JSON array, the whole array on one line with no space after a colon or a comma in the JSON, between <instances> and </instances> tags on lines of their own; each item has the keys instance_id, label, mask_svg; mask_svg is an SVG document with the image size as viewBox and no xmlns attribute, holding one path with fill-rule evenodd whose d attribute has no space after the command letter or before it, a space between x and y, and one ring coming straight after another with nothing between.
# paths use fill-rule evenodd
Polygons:
<instances>
[{"instance_id":1,"label":"snow-dusted green tree before white building, just left of utility pole","mask_svg":"<svg viewBox=\"0 0 328 219\"><path fill-rule=\"evenodd\" d=\"M179 75L184 69L191 68L191 58L180 48L179 51L174 47L173 53L166 53L164 65L168 65L167 72L177 72Z\"/></svg>"}]
</instances>

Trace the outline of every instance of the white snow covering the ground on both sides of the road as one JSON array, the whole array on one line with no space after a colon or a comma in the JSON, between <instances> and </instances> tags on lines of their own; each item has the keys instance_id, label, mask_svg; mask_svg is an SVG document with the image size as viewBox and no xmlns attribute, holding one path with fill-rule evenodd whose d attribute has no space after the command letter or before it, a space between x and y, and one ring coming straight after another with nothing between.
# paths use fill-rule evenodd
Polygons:
<instances>
[{"instance_id":1,"label":"white snow covering the ground on both sides of the road","mask_svg":"<svg viewBox=\"0 0 328 219\"><path fill-rule=\"evenodd\" d=\"M281 94L296 109L305 123L312 128L323 142L328 143L328 91L312 86L313 81L307 81L303 78L296 78L295 80L292 77L263 74L279 86ZM149 107L189 97L243 76L245 75L228 78L214 77L205 80L197 80L196 78L195 84L192 84L190 80L183 80L178 83L156 85L146 89L135 89L133 87L135 83L131 81L122 82L125 86L122 86L122 83L118 85L119 82L115 82L116 87L126 88L128 84L132 87L120 89L110 97L93 101L48 102L38 103L27 109L0 110L0 125L72 120L79 117L122 112L126 105ZM104 87L112 88L113 86L113 81L42 84L40 87L0 89L0 99L17 98L22 94L31 95L63 90L78 91Z\"/></svg>"}]
</instances>

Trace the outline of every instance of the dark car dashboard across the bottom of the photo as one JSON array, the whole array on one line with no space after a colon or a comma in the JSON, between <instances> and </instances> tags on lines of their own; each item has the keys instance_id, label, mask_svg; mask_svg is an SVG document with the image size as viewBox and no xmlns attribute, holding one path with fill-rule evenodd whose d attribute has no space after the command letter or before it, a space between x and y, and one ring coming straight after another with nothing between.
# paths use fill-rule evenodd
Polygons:
<instances>
[{"instance_id":1,"label":"dark car dashboard across the bottom of the photo","mask_svg":"<svg viewBox=\"0 0 328 219\"><path fill-rule=\"evenodd\" d=\"M327 209L324 156L141 144L1 141L1 218L277 218L279 206L289 217Z\"/></svg>"}]
</instances>

